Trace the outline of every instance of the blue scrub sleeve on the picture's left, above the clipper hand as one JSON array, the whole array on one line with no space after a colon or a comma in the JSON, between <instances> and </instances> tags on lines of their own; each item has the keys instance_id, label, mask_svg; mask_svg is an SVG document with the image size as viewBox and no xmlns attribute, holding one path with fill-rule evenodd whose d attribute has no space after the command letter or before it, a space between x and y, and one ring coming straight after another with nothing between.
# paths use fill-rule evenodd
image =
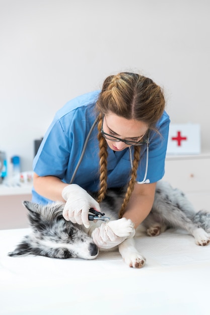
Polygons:
<instances>
[{"instance_id":1,"label":"blue scrub sleeve on the picture's left, above the clipper hand","mask_svg":"<svg viewBox=\"0 0 210 315\"><path fill-rule=\"evenodd\" d=\"M63 131L56 118L48 128L34 158L33 170L39 176L63 178L69 160L71 137Z\"/></svg>"}]
</instances>

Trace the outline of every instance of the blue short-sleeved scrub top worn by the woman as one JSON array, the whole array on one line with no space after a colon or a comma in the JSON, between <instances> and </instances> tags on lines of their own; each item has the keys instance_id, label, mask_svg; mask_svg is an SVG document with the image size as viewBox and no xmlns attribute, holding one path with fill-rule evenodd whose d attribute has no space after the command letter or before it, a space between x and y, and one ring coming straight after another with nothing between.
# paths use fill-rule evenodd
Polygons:
<instances>
[{"instance_id":1,"label":"blue short-sleeved scrub top worn by the woman","mask_svg":"<svg viewBox=\"0 0 210 315\"><path fill-rule=\"evenodd\" d=\"M79 96L64 105L56 113L39 150L34 158L33 170L38 176L56 176L65 183L71 181L80 159L85 140L97 117L95 104L100 91ZM170 119L166 112L157 123L160 134L150 131L149 165L147 179L154 183L164 175L165 155ZM99 147L97 125L94 127L83 160L74 179L75 184L88 191L99 188ZM137 170L137 182L141 182L146 169L146 144L141 146L141 160ZM132 147L133 153L133 147ZM122 187L130 178L129 148L114 152L108 147L107 185ZM32 201L46 204L51 200L32 189Z\"/></svg>"}]
</instances>

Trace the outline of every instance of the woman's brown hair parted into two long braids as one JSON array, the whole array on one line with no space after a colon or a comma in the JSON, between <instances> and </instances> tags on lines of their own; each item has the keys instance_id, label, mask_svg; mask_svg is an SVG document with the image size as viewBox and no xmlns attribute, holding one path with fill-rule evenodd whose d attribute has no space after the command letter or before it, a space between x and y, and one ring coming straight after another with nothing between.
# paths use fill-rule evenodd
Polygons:
<instances>
[{"instance_id":1,"label":"woman's brown hair parted into two long braids","mask_svg":"<svg viewBox=\"0 0 210 315\"><path fill-rule=\"evenodd\" d=\"M96 103L98 116L98 140L99 140L99 163L100 163L100 187L98 202L100 203L107 191L107 142L101 134L103 115L116 114L125 119L135 119L144 122L150 129L162 116L165 108L165 98L161 87L156 85L150 78L132 72L121 72L110 75L103 83L102 91ZM127 191L119 210L122 217L128 204L137 175L140 160L141 146L134 146L133 167Z\"/></svg>"}]
</instances>

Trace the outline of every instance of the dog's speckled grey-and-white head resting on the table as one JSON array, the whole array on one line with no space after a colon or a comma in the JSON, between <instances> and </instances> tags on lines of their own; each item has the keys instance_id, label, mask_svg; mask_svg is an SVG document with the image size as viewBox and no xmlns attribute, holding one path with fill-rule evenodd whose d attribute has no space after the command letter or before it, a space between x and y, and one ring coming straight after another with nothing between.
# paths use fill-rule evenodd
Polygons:
<instances>
[{"instance_id":1,"label":"dog's speckled grey-and-white head resting on the table","mask_svg":"<svg viewBox=\"0 0 210 315\"><path fill-rule=\"evenodd\" d=\"M32 232L25 236L9 256L34 254L51 258L97 257L98 248L83 231L83 227L63 218L63 203L42 206L24 201L23 204L28 209Z\"/></svg>"}]
</instances>

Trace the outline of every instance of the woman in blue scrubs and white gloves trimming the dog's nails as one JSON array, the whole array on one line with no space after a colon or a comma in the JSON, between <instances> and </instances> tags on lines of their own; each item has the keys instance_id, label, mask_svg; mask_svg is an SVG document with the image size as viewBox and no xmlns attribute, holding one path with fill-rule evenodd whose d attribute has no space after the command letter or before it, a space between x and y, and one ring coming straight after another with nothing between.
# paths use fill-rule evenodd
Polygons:
<instances>
[{"instance_id":1,"label":"woman in blue scrubs and white gloves trimming the dog's nails","mask_svg":"<svg viewBox=\"0 0 210 315\"><path fill-rule=\"evenodd\" d=\"M106 190L127 185L119 217L137 227L149 214L156 182L164 175L169 116L162 89L137 73L110 75L101 91L58 110L34 159L33 202L65 201L63 217L89 226ZM98 192L98 201L88 192ZM124 238L105 224L92 234L99 247ZM113 246L112 246L113 244Z\"/></svg>"}]
</instances>

